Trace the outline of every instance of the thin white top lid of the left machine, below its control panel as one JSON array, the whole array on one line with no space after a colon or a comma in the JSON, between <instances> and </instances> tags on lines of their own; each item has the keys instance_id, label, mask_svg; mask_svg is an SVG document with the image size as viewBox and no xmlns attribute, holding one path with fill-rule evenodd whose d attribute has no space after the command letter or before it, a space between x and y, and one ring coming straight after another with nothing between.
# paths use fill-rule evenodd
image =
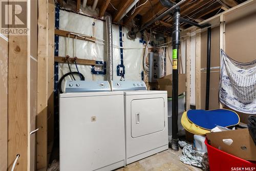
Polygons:
<instances>
[{"instance_id":1,"label":"thin white top lid of the left machine, below its control panel","mask_svg":"<svg viewBox=\"0 0 256 171\"><path fill-rule=\"evenodd\" d=\"M59 94L59 98L66 97L89 97L89 96L112 96L112 95L123 95L123 92L82 92L82 93L62 93Z\"/></svg>"}]
</instances>

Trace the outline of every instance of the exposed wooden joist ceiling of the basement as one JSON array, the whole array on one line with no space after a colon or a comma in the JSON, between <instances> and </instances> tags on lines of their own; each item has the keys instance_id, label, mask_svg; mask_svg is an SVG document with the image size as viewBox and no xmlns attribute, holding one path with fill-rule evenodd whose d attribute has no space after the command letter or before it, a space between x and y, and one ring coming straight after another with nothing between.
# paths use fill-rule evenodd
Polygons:
<instances>
[{"instance_id":1,"label":"exposed wooden joist ceiling of the basement","mask_svg":"<svg viewBox=\"0 0 256 171\"><path fill-rule=\"evenodd\" d=\"M60 4L62 1L67 2L69 0L58 0ZM82 4L83 1L86 0L73 1L77 3L77 9L74 9L74 11L79 12L79 4ZM87 6L93 6L94 1L95 0L87 0ZM133 7L126 13L122 20L120 20L123 13L134 1L135 0L98 0L97 8L99 9L99 16L95 17L102 17L104 12L108 12L113 16L114 23L140 28L168 9L164 7L159 0L139 0L135 6L136 8ZM215 16L245 1L246 0L187 0L180 6L181 17L200 23L205 19ZM173 18L171 15L167 15L158 22L153 23L147 29L171 34L172 25ZM186 29L188 27L190 27L190 25L181 23L181 29Z\"/></svg>"}]
</instances>

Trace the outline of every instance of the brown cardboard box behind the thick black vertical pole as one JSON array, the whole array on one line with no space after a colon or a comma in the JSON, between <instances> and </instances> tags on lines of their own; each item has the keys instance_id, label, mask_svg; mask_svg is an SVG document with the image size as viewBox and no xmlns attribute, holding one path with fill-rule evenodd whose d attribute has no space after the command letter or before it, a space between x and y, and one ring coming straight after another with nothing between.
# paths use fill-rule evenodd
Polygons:
<instances>
[{"instance_id":1,"label":"brown cardboard box behind the thick black vertical pole","mask_svg":"<svg viewBox=\"0 0 256 171\"><path fill-rule=\"evenodd\" d=\"M173 97L173 76L172 74L166 75L157 79L159 84L159 90L167 91L168 97ZM179 74L178 94L182 94L186 91L186 74Z\"/></svg>"}]
</instances>

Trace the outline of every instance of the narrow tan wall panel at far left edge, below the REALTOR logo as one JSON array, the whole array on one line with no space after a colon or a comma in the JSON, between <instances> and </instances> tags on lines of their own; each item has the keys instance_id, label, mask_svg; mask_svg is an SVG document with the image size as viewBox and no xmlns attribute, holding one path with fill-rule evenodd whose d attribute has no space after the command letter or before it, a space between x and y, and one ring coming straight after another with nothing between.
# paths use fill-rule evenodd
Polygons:
<instances>
[{"instance_id":1,"label":"narrow tan wall panel at far left edge, below the REALTOR logo","mask_svg":"<svg viewBox=\"0 0 256 171\"><path fill-rule=\"evenodd\" d=\"M0 37L0 171L7 170L8 41Z\"/></svg>"}]
</instances>

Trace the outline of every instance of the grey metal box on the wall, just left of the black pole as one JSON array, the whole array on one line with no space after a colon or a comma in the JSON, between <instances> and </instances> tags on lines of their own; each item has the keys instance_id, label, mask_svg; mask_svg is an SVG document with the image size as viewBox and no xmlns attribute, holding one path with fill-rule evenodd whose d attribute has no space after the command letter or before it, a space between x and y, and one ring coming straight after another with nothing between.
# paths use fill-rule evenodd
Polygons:
<instances>
[{"instance_id":1,"label":"grey metal box on the wall, just left of the black pole","mask_svg":"<svg viewBox=\"0 0 256 171\"><path fill-rule=\"evenodd\" d=\"M161 77L164 62L162 58L154 52L148 53L148 59L150 61L150 73L148 73L148 82L157 82L157 79Z\"/></svg>"}]
</instances>

